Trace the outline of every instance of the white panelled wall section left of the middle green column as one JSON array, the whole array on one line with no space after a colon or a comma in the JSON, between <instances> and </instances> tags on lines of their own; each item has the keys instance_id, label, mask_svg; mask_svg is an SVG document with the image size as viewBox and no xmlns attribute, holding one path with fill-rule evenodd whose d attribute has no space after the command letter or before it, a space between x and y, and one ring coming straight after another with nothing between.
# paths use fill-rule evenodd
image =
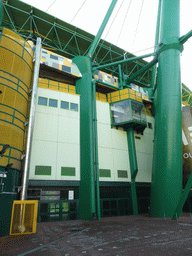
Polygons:
<instances>
[{"instance_id":1,"label":"white panelled wall section left of the middle green column","mask_svg":"<svg viewBox=\"0 0 192 256\"><path fill-rule=\"evenodd\" d=\"M29 179L80 180L79 96L38 88L38 97L58 100L58 107L36 106ZM78 112L60 108L60 101L78 104ZM35 175L35 166L51 166L51 176ZM76 176L61 176L61 167L75 167Z\"/></svg>"}]
</instances>

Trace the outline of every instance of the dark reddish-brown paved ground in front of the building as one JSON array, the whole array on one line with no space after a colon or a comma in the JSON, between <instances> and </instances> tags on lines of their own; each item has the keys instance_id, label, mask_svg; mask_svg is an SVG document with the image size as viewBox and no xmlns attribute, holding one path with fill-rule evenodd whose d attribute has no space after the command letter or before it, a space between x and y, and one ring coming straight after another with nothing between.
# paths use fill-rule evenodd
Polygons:
<instances>
[{"instance_id":1,"label":"dark reddish-brown paved ground in front of the building","mask_svg":"<svg viewBox=\"0 0 192 256\"><path fill-rule=\"evenodd\" d=\"M190 255L189 213L178 221L147 215L38 223L37 233L0 238L0 255Z\"/></svg>"}]
</instances>

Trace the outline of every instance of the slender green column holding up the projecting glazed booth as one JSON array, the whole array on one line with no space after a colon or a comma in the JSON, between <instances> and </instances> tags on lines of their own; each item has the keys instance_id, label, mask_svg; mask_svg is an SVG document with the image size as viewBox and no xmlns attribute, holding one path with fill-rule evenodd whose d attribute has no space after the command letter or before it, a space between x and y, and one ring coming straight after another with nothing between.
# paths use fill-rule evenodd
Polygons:
<instances>
[{"instance_id":1,"label":"slender green column holding up the projecting glazed booth","mask_svg":"<svg viewBox=\"0 0 192 256\"><path fill-rule=\"evenodd\" d=\"M133 205L133 215L138 215L138 204L137 204L137 192L135 178L138 172L137 166L137 155L135 149L135 137L132 127L127 129L127 143L129 151L129 164L131 171L131 196L132 196L132 205Z\"/></svg>"}]
</instances>

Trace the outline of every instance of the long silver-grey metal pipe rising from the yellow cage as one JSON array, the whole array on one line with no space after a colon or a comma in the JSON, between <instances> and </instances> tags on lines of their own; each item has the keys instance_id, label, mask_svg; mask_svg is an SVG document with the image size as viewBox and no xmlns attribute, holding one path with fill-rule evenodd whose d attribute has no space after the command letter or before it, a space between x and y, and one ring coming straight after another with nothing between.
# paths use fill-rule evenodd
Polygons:
<instances>
[{"instance_id":1,"label":"long silver-grey metal pipe rising from the yellow cage","mask_svg":"<svg viewBox=\"0 0 192 256\"><path fill-rule=\"evenodd\" d=\"M31 153L31 142L32 142L33 126L34 126L34 119L35 119L35 109L36 109L36 101L37 101L37 88L38 88L39 69L40 69L40 57L41 57L41 37L37 37L36 47L35 47L35 65L34 65L34 73L33 73L33 87L32 87L30 116L29 116L28 134L27 134L27 147L26 147L26 156L25 156L25 164L24 164L23 179L22 179L21 200L25 200L26 192L27 192L27 179L28 179L30 153Z\"/></svg>"}]
</instances>

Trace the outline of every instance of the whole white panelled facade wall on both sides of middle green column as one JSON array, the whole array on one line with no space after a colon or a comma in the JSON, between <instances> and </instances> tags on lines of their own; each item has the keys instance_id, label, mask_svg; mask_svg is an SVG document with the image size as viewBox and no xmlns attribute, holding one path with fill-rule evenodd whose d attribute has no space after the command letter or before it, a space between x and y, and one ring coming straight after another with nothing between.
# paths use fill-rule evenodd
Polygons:
<instances>
[{"instance_id":1,"label":"whole white panelled facade wall on both sides of middle green column","mask_svg":"<svg viewBox=\"0 0 192 256\"><path fill-rule=\"evenodd\" d=\"M79 95L38 88L38 97L58 100L58 106L37 104L29 179L80 180L80 105ZM60 108L60 102L78 104L78 111ZM107 170L109 177L100 181L131 181L127 134L122 128L111 128L109 103L97 101L99 169ZM152 129L135 133L138 159L137 182L151 182L154 118L147 116ZM51 175L36 175L36 166L51 166ZM75 168L75 176L62 176L61 167ZM110 171L109 171L110 170ZM118 170L127 171L127 177L118 177Z\"/></svg>"}]
</instances>

